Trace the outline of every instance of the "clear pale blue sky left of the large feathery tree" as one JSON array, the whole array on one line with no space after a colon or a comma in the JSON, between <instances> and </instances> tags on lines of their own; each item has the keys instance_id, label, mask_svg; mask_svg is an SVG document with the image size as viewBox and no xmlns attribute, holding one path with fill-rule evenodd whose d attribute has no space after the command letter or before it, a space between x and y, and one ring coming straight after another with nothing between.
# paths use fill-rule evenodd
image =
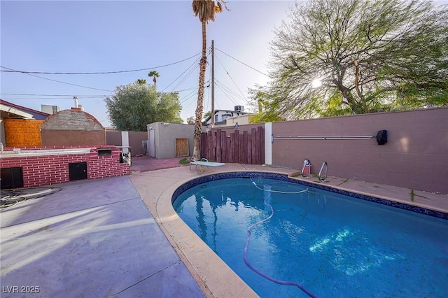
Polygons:
<instances>
[{"instance_id":1,"label":"clear pale blue sky left of the large feathery tree","mask_svg":"<svg viewBox=\"0 0 448 298\"><path fill-rule=\"evenodd\" d=\"M74 106L111 127L104 98L158 71L160 92L179 92L184 122L194 117L202 50L192 1L1 1L0 98L41 111ZM244 106L248 88L269 78L269 42L293 1L231 1L207 25L215 45L215 108ZM206 86L211 78L208 57ZM169 64L169 65L168 65ZM97 74L43 74L50 73ZM139 70L139 71L135 71ZM102 72L102 73L100 73ZM116 73L104 73L116 72ZM211 88L204 111L211 110Z\"/></svg>"}]
</instances>

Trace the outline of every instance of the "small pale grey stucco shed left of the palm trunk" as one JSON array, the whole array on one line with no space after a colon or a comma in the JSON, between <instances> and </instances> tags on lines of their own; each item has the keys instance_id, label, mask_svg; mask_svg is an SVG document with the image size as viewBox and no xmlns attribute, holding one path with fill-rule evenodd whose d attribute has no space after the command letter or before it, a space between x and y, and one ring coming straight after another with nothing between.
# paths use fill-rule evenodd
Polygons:
<instances>
[{"instance_id":1,"label":"small pale grey stucco shed left of the palm trunk","mask_svg":"<svg viewBox=\"0 0 448 298\"><path fill-rule=\"evenodd\" d=\"M194 125L179 123L154 122L148 124L148 146L150 146L150 129L154 130L155 157L176 157L176 139L188 139L190 155L193 154Z\"/></svg>"}]
</instances>

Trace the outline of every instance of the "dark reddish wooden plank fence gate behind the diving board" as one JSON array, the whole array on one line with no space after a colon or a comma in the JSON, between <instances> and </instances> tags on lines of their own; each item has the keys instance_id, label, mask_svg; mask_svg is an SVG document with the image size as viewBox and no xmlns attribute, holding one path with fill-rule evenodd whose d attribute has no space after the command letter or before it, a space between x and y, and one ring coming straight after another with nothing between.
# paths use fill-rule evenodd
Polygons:
<instances>
[{"instance_id":1,"label":"dark reddish wooden plank fence gate behind the diving board","mask_svg":"<svg viewBox=\"0 0 448 298\"><path fill-rule=\"evenodd\" d=\"M221 129L202 134L201 157L214 162L240 164L265 163L265 129L257 127L251 132L235 130L228 136Z\"/></svg>"}]
</instances>

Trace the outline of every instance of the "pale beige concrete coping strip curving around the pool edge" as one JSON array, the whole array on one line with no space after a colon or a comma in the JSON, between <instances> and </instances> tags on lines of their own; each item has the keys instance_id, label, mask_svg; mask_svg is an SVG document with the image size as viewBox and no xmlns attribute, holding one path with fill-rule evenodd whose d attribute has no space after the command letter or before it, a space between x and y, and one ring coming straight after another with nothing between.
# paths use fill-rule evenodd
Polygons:
<instances>
[{"instance_id":1,"label":"pale beige concrete coping strip curving around the pool edge","mask_svg":"<svg viewBox=\"0 0 448 298\"><path fill-rule=\"evenodd\" d=\"M235 164L239 165L239 164ZM235 168L234 166L230 166ZM210 176L222 173L235 173L235 172L258 172L258 173L277 173L288 176L291 179L302 180L306 183L311 183L318 188L332 187L337 190L346 192L358 193L365 196L376 197L379 199L386 199L388 201L398 202L400 204L407 204L416 206L418 208L429 208L437 212L448 213L448 204L440 202L448 199L444 194L433 194L437 199L437 204L431 206L434 200L429 195L430 193L416 192L414 201L409 201L407 195L397 196L397 198L388 196L388 192L403 192L403 188L393 187L389 185L374 185L374 183L363 183L362 181L349 181L342 178L331 177L328 183L322 183L314 178L304 178L302 176L295 177L297 172L291 169L274 168L270 166L258 166L255 169L254 166L241 165L243 169L216 169L214 171L208 171L205 173L195 173L188 178L182 178L177 180L176 183L167 187L160 197L153 203L146 205L150 208L153 217L160 225L160 228L167 236L167 239L179 254L179 257L186 264L186 267L192 274L195 281L200 286L204 295L207 297L258 297L258 295L242 281L235 271L230 269L223 260L221 260L216 253L214 253L209 246L207 246L202 239L200 239L195 232L193 232L188 225L177 215L172 206L172 197L174 192L182 185L188 183L191 180L195 180L200 177ZM182 168L178 168L181 170ZM186 169L185 167L183 169ZM183 170L181 170L183 171ZM358 189L353 189L353 183L361 185ZM343 186L342 186L343 185ZM367 185L367 186L365 186ZM364 187L364 189L363 189ZM138 188L138 187L137 187ZM356 188L356 187L354 187ZM405 190L408 191L408 190ZM428 199L430 197L430 199ZM446 198L445 198L446 197ZM441 199L440 199L441 198ZM152 205L152 206L151 206ZM205 261L205 262L204 262ZM231 287L229 285L232 285Z\"/></svg>"}]
</instances>

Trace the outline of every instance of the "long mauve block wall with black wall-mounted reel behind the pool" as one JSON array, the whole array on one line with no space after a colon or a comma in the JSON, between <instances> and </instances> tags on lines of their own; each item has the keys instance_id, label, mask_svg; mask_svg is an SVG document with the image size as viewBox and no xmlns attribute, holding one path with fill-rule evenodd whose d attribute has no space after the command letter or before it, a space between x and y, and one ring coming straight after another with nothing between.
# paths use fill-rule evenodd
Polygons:
<instances>
[{"instance_id":1,"label":"long mauve block wall with black wall-mounted reel behind the pool","mask_svg":"<svg viewBox=\"0 0 448 298\"><path fill-rule=\"evenodd\" d=\"M304 140L278 136L376 136L388 131L388 143L376 139ZM328 175L414 190L448 193L448 107L397 113L373 113L272 124L272 164L312 173L328 162Z\"/></svg>"}]
</instances>

